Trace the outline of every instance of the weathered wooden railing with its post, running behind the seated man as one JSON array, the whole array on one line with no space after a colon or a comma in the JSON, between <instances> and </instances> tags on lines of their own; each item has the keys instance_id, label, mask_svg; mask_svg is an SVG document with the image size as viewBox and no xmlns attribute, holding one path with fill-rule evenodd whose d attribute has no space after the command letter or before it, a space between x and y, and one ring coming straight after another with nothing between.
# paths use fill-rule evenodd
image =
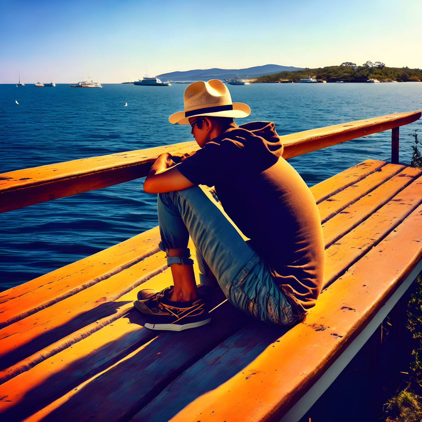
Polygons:
<instances>
[{"instance_id":1,"label":"weathered wooden railing with its post, running behind the seated man","mask_svg":"<svg viewBox=\"0 0 422 422\"><path fill-rule=\"evenodd\" d=\"M280 136L283 157L289 159L392 129L391 161L397 163L398 128L420 117L421 110L395 113ZM152 163L163 152L185 153L197 149L195 141L184 142L3 173L0 174L0 212L138 179L148 174Z\"/></svg>"}]
</instances>

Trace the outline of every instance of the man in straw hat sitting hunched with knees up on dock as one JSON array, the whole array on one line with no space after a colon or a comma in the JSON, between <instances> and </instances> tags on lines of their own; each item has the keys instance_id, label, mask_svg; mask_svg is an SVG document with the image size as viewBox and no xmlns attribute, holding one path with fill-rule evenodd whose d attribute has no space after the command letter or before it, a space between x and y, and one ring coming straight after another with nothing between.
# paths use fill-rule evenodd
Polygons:
<instances>
[{"instance_id":1,"label":"man in straw hat sitting hunched with knees up on dock","mask_svg":"<svg viewBox=\"0 0 422 422\"><path fill-rule=\"evenodd\" d=\"M161 292L138 292L134 306L146 314L147 328L184 330L210 321L207 300L197 291L189 235L200 282L219 286L249 316L291 325L315 305L324 242L314 197L281 157L274 123L234 123L249 114L249 106L232 103L225 84L212 79L190 84L184 111L169 117L191 125L200 149L161 154L143 185L158 193L160 249L174 282ZM224 210L198 185L214 186Z\"/></svg>"}]
</instances>

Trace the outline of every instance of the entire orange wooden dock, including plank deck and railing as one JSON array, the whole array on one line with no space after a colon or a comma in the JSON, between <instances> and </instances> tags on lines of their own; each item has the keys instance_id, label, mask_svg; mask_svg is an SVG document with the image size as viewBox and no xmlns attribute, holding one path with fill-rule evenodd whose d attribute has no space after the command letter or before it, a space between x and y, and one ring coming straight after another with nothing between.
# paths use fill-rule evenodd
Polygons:
<instances>
[{"instance_id":1,"label":"entire orange wooden dock, including plank deck and railing","mask_svg":"<svg viewBox=\"0 0 422 422\"><path fill-rule=\"evenodd\" d=\"M208 325L144 328L133 308L138 290L172 284L157 227L0 293L3 420L298 421L422 269L422 170L396 160L398 127L420 116L281 137L290 158L393 129L392 163L366 160L311 188L325 239L324 289L294 327L253 321L217 295ZM193 147L5 173L2 210L142 177L162 152Z\"/></svg>"}]
</instances>

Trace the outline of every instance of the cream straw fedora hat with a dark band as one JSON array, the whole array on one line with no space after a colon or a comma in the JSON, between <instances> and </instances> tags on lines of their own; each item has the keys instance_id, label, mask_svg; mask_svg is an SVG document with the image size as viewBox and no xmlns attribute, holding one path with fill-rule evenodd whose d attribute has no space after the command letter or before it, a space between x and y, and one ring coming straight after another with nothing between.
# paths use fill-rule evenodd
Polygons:
<instances>
[{"instance_id":1,"label":"cream straw fedora hat with a dark band","mask_svg":"<svg viewBox=\"0 0 422 422\"><path fill-rule=\"evenodd\" d=\"M189 117L246 117L251 113L246 104L232 103L229 90L218 79L190 84L184 92L184 107L184 111L173 113L168 121L173 124L188 124Z\"/></svg>"}]
</instances>

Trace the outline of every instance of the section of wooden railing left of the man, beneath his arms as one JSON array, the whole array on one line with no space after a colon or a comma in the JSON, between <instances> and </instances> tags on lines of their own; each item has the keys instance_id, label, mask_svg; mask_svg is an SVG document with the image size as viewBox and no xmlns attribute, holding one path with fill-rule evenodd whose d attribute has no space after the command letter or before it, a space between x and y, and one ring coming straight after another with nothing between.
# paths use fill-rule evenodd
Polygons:
<instances>
[{"instance_id":1,"label":"section of wooden railing left of the man, beneath his arms","mask_svg":"<svg viewBox=\"0 0 422 422\"><path fill-rule=\"evenodd\" d=\"M196 142L82 158L0 174L0 212L138 179L164 152L184 154Z\"/></svg>"}]
</instances>

